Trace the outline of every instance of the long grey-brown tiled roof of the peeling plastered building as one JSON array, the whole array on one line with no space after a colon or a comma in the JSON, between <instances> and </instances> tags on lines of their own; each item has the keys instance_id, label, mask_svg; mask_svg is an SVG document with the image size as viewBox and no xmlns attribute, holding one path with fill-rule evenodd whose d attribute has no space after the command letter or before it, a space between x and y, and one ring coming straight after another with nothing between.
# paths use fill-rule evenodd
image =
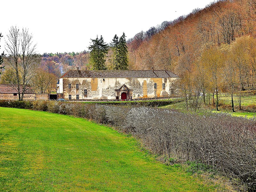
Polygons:
<instances>
[{"instance_id":1,"label":"long grey-brown tiled roof of the peeling plastered building","mask_svg":"<svg viewBox=\"0 0 256 192\"><path fill-rule=\"evenodd\" d=\"M147 70L69 70L60 78L178 78L171 71Z\"/></svg>"}]
</instances>

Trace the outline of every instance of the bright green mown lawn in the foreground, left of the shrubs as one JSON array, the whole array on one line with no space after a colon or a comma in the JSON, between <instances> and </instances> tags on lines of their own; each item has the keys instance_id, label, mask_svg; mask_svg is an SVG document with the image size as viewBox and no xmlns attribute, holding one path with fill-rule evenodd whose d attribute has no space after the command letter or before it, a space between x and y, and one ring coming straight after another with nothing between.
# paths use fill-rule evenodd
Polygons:
<instances>
[{"instance_id":1,"label":"bright green mown lawn in the foreground, left of the shrubs","mask_svg":"<svg viewBox=\"0 0 256 192\"><path fill-rule=\"evenodd\" d=\"M130 136L47 112L0 108L0 191L214 191Z\"/></svg>"}]
</instances>

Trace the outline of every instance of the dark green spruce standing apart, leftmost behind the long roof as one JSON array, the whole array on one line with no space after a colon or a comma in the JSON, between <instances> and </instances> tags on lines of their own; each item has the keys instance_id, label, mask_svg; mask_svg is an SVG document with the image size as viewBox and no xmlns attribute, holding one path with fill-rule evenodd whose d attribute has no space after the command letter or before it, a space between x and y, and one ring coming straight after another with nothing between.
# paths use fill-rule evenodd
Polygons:
<instances>
[{"instance_id":1,"label":"dark green spruce standing apart, leftmost behind the long roof","mask_svg":"<svg viewBox=\"0 0 256 192\"><path fill-rule=\"evenodd\" d=\"M92 45L89 46L90 51L90 63L93 70L106 70L106 54L108 53L108 45L104 43L103 37L100 39L91 39Z\"/></svg>"}]
</instances>

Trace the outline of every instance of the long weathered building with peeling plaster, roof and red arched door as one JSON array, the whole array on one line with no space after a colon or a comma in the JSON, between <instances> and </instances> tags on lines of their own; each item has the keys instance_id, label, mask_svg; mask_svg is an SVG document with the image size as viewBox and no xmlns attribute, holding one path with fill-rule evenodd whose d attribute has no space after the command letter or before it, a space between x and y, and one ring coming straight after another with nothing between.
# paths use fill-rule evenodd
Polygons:
<instances>
[{"instance_id":1,"label":"long weathered building with peeling plaster, roof and red arched door","mask_svg":"<svg viewBox=\"0 0 256 192\"><path fill-rule=\"evenodd\" d=\"M58 98L126 100L175 94L171 71L69 70L57 83Z\"/></svg>"}]
</instances>

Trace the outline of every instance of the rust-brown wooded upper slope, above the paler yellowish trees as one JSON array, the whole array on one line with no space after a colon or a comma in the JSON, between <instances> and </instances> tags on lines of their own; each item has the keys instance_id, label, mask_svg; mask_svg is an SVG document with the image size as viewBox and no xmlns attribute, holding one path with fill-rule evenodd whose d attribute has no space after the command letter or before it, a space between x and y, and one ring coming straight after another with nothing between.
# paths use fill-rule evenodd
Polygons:
<instances>
[{"instance_id":1,"label":"rust-brown wooded upper slope, above the paler yellowish trees","mask_svg":"<svg viewBox=\"0 0 256 192\"><path fill-rule=\"evenodd\" d=\"M204 49L231 44L243 35L255 37L255 13L255 0L222 0L167 23L164 30L140 32L128 41L130 68L179 74L191 68Z\"/></svg>"}]
</instances>

